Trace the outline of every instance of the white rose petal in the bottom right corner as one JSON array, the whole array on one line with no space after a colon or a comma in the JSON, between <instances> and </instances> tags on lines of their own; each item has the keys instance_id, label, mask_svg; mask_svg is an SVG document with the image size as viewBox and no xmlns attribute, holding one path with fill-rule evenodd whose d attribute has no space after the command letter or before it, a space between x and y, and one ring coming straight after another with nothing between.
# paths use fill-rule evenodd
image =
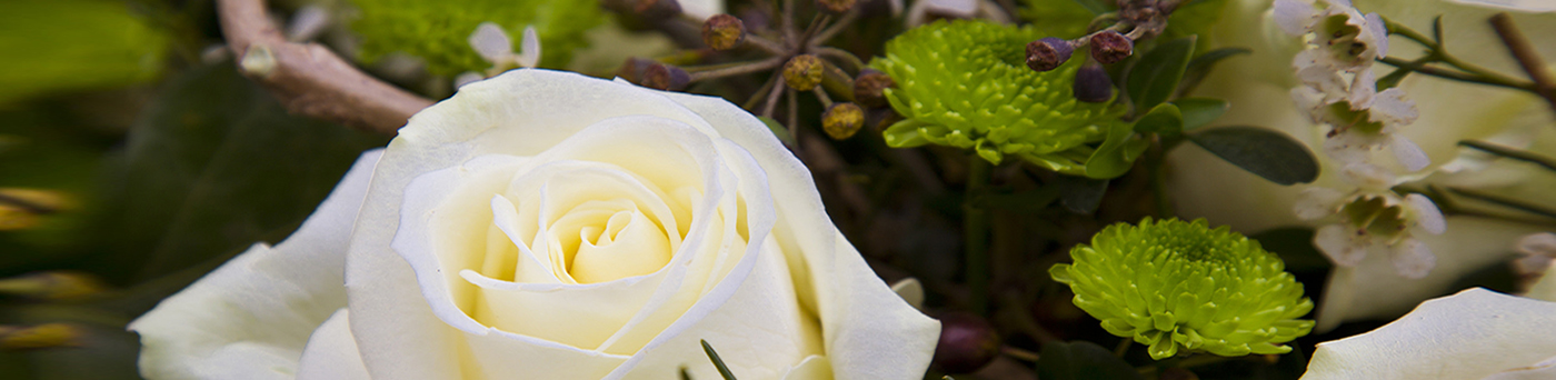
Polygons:
<instances>
[{"instance_id":1,"label":"white rose petal in the bottom right corner","mask_svg":"<svg viewBox=\"0 0 1556 380\"><path fill-rule=\"evenodd\" d=\"M1551 325L1556 302L1472 288L1377 330L1319 343L1302 378L1484 378L1556 355Z\"/></svg>"}]
</instances>

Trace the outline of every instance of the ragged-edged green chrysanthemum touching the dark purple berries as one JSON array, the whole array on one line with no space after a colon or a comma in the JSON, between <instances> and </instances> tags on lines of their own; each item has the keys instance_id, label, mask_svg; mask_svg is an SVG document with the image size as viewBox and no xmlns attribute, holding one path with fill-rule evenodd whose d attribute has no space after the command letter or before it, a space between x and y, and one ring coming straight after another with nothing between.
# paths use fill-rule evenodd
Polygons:
<instances>
[{"instance_id":1,"label":"ragged-edged green chrysanthemum touching the dark purple berries","mask_svg":"<svg viewBox=\"0 0 1556 380\"><path fill-rule=\"evenodd\" d=\"M999 164L1018 156L1069 174L1083 174L1086 159L1122 107L1081 103L1072 95L1071 59L1050 72L1025 64L1027 42L1044 33L988 22L935 22L909 30L885 45L871 67L896 81L885 98L906 117L885 129L890 146L924 143L976 150Z\"/></svg>"}]
</instances>

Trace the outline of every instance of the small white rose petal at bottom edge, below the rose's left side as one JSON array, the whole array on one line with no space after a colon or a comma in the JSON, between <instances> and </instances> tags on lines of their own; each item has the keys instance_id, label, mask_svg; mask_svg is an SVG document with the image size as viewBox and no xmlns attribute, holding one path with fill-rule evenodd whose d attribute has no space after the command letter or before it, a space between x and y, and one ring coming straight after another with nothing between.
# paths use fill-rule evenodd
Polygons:
<instances>
[{"instance_id":1,"label":"small white rose petal at bottom edge, below the rose's left side","mask_svg":"<svg viewBox=\"0 0 1556 380\"><path fill-rule=\"evenodd\" d=\"M302 350L297 380L367 380L361 350L352 338L350 313L342 307L324 321Z\"/></svg>"}]
</instances>

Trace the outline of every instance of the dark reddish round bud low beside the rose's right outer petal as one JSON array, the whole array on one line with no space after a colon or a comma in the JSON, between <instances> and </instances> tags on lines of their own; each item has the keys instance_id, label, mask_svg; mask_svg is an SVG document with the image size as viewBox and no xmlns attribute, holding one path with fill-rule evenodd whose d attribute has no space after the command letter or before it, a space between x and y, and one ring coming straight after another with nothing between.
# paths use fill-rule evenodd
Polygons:
<instances>
[{"instance_id":1,"label":"dark reddish round bud low beside the rose's right outer petal","mask_svg":"<svg viewBox=\"0 0 1556 380\"><path fill-rule=\"evenodd\" d=\"M940 316L940 344L934 366L948 374L968 374L999 355L999 333L982 316L946 313Z\"/></svg>"}]
</instances>

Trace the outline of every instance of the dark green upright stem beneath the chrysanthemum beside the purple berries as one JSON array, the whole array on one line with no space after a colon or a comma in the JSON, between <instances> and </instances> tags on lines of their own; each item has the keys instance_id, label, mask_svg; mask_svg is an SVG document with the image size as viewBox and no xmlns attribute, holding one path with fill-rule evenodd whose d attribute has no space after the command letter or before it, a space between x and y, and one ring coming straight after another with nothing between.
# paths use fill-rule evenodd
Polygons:
<instances>
[{"instance_id":1,"label":"dark green upright stem beneath the chrysanthemum beside the purple berries","mask_svg":"<svg viewBox=\"0 0 1556 380\"><path fill-rule=\"evenodd\" d=\"M971 288L972 313L988 315L988 210L980 198L988 192L990 164L979 156L968 157L966 193L962 196L962 232L966 243L965 271Z\"/></svg>"}]
</instances>

